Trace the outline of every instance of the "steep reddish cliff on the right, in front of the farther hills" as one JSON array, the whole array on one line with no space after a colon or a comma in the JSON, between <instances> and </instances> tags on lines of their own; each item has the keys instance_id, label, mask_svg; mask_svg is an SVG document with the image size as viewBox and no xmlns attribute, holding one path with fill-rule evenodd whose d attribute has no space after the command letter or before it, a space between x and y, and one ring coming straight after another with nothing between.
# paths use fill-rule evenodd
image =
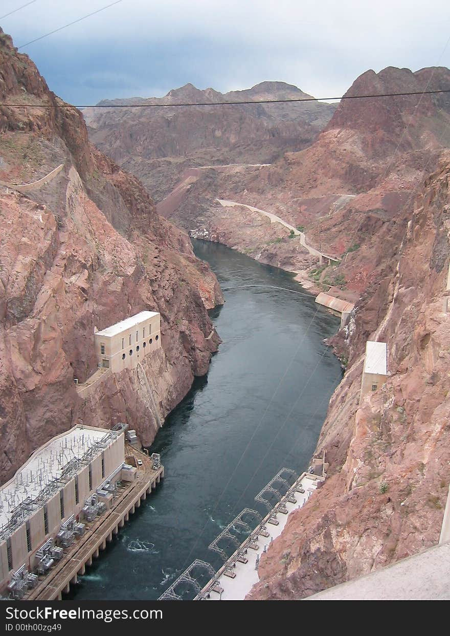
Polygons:
<instances>
[{"instance_id":1,"label":"steep reddish cliff on the right, in front of the farther hills","mask_svg":"<svg viewBox=\"0 0 450 636\"><path fill-rule=\"evenodd\" d=\"M318 442L329 477L271 544L250 598L303 598L439 540L450 480L449 259L447 155L340 343L348 369ZM360 404L367 338L388 343L390 377Z\"/></svg>"}]
</instances>

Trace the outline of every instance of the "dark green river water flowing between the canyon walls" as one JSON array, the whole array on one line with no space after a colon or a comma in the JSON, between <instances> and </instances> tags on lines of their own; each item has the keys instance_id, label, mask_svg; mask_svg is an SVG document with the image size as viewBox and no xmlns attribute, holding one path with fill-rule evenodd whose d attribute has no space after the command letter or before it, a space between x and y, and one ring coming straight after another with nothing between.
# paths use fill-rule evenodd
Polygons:
<instances>
[{"instance_id":1,"label":"dark green river water flowing between the canyon walls","mask_svg":"<svg viewBox=\"0 0 450 636\"><path fill-rule=\"evenodd\" d=\"M193 242L224 289L304 291L282 270ZM212 539L242 508L264 512L254 496L281 467L308 467L341 379L323 342L339 321L313 296L269 287L224 296L211 312L223 342L208 375L196 379L150 449L161 453L165 479L66 598L155 599L195 558L217 569Z\"/></svg>"}]
</instances>

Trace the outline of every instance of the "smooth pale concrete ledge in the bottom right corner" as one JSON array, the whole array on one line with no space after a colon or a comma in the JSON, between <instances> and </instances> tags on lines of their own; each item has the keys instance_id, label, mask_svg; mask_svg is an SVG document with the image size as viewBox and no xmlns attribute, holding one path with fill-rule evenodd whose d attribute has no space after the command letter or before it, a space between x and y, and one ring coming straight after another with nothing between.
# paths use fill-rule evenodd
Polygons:
<instances>
[{"instance_id":1,"label":"smooth pale concrete ledge in the bottom right corner","mask_svg":"<svg viewBox=\"0 0 450 636\"><path fill-rule=\"evenodd\" d=\"M450 600L450 543L304 600Z\"/></svg>"}]
</instances>

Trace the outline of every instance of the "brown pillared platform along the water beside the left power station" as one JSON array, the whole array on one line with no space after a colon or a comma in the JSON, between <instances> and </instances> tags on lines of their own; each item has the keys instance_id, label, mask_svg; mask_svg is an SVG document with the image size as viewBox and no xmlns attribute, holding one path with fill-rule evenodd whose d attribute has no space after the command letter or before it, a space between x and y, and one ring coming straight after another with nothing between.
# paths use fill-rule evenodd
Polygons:
<instances>
[{"instance_id":1,"label":"brown pillared platform along the water beside the left power station","mask_svg":"<svg viewBox=\"0 0 450 636\"><path fill-rule=\"evenodd\" d=\"M71 584L76 584L78 575L85 574L86 565L105 550L120 528L133 515L140 502L151 494L164 477L162 464L153 466L153 459L130 445L125 446L126 456L134 457L137 478L124 482L118 488L113 506L92 523L86 524L85 534L64 551L64 556L45 576L40 576L36 587L24 596L24 600L61 600L62 593L69 593ZM139 464L139 462L142 464Z\"/></svg>"}]
</instances>

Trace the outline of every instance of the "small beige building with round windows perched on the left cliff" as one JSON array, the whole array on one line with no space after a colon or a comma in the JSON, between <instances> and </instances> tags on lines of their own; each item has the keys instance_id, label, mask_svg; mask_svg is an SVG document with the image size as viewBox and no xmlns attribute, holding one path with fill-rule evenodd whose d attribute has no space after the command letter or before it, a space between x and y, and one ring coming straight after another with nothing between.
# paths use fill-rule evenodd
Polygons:
<instances>
[{"instance_id":1,"label":"small beige building with round windows perched on the left cliff","mask_svg":"<svg viewBox=\"0 0 450 636\"><path fill-rule=\"evenodd\" d=\"M161 347L160 314L139 312L94 335L99 367L118 373L135 369L147 354Z\"/></svg>"}]
</instances>

